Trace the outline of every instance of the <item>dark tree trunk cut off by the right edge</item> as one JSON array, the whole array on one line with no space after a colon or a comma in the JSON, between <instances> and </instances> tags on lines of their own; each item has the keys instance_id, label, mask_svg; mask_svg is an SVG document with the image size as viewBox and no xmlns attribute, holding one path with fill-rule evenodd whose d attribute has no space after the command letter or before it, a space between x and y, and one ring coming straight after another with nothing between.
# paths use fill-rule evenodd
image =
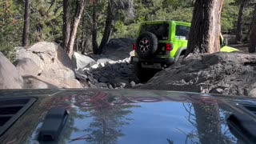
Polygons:
<instances>
[{"instance_id":1,"label":"dark tree trunk cut off by the right edge","mask_svg":"<svg viewBox=\"0 0 256 144\"><path fill-rule=\"evenodd\" d=\"M249 53L255 53L256 47L256 5L254 7L254 18L250 30Z\"/></svg>"}]
</instances>

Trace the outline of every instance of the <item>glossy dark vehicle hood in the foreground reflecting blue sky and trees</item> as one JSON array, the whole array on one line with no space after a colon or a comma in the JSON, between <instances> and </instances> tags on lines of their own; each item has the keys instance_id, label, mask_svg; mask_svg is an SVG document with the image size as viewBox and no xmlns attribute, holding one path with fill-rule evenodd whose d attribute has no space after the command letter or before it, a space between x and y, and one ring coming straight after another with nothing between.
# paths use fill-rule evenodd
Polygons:
<instances>
[{"instance_id":1,"label":"glossy dark vehicle hood in the foreground reflecting blue sky and trees","mask_svg":"<svg viewBox=\"0 0 256 144\"><path fill-rule=\"evenodd\" d=\"M69 111L58 143L236 143L226 118L254 114L254 98L154 90L0 90L0 98L37 102L0 137L34 143L51 107ZM47 143L47 142L46 142Z\"/></svg>"}]
</instances>

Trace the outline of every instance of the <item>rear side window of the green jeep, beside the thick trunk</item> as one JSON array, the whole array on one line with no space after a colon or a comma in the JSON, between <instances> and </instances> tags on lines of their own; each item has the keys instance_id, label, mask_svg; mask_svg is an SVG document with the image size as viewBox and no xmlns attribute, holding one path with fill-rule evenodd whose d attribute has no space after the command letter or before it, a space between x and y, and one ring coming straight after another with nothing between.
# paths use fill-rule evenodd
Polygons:
<instances>
[{"instance_id":1,"label":"rear side window of the green jeep, beside the thick trunk","mask_svg":"<svg viewBox=\"0 0 256 144\"><path fill-rule=\"evenodd\" d=\"M176 39L188 40L190 34L189 26L176 26Z\"/></svg>"}]
</instances>

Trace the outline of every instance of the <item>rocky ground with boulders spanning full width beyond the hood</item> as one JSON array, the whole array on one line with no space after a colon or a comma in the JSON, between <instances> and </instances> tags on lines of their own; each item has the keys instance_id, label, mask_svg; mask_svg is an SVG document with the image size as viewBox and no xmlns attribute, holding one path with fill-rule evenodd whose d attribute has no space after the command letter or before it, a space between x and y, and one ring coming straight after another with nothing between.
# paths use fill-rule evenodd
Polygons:
<instances>
[{"instance_id":1,"label":"rocky ground with boulders spanning full width beyond the hood","mask_svg":"<svg viewBox=\"0 0 256 144\"><path fill-rule=\"evenodd\" d=\"M74 53L72 61L55 43L18 47L14 64L0 54L0 89L146 89L256 97L256 54L248 54L246 45L232 45L237 53L180 59L141 84L130 64L133 42L112 39L102 55Z\"/></svg>"}]
</instances>

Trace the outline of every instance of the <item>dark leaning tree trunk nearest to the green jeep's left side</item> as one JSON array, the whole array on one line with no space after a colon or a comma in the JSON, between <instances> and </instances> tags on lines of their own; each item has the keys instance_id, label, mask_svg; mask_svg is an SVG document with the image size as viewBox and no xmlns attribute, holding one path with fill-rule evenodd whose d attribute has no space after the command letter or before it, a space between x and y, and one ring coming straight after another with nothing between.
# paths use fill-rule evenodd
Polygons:
<instances>
[{"instance_id":1,"label":"dark leaning tree trunk nearest to the green jeep's left side","mask_svg":"<svg viewBox=\"0 0 256 144\"><path fill-rule=\"evenodd\" d=\"M98 54L102 54L102 49L106 44L110 41L110 35L112 31L112 25L113 25L113 20L114 20L114 15L112 13L111 9L111 3L112 1L109 1L108 4L108 10L107 10L107 15L106 15L106 23L105 23L105 30L102 38L102 42L100 46L98 47Z\"/></svg>"}]
</instances>

